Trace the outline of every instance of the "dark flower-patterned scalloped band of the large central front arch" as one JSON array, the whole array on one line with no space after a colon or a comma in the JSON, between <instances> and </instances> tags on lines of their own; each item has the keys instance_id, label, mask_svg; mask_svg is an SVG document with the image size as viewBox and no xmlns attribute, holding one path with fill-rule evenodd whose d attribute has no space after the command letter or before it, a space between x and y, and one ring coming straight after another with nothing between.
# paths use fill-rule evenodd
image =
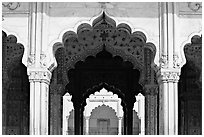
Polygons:
<instances>
[{"instance_id":1,"label":"dark flower-patterned scalloped band of the large central front arch","mask_svg":"<svg viewBox=\"0 0 204 137\"><path fill-rule=\"evenodd\" d=\"M149 44L146 40L143 32L132 33L131 27L126 23L116 26L116 22L103 12L93 20L92 25L82 23L78 26L77 32L65 32L61 44L57 45L63 45L66 53L64 55L66 70L74 68L76 62L83 61L88 56L96 56L97 53L106 49L113 56L120 56L124 61L131 62L134 69L140 71L139 83L144 85L144 57L146 56L144 50L152 47L152 51L155 52L154 44Z\"/></svg>"}]
</instances>

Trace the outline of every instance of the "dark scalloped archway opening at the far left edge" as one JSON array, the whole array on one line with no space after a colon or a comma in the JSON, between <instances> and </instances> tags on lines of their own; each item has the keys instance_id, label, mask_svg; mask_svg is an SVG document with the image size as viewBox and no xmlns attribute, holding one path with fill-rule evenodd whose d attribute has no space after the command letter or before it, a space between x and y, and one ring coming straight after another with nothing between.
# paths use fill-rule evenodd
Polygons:
<instances>
[{"instance_id":1,"label":"dark scalloped archway opening at the far left edge","mask_svg":"<svg viewBox=\"0 0 204 137\"><path fill-rule=\"evenodd\" d=\"M30 84L22 63L24 47L2 31L2 133L29 134Z\"/></svg>"}]
</instances>

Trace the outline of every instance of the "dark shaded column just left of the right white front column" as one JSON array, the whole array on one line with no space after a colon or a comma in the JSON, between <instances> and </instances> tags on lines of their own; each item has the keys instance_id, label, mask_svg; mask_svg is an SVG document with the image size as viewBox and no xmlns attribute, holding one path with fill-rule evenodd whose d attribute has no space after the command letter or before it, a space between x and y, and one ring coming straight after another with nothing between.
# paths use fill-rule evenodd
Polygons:
<instances>
[{"instance_id":1,"label":"dark shaded column just left of the right white front column","mask_svg":"<svg viewBox=\"0 0 204 137\"><path fill-rule=\"evenodd\" d=\"M157 135L157 85L145 85L145 134Z\"/></svg>"}]
</instances>

